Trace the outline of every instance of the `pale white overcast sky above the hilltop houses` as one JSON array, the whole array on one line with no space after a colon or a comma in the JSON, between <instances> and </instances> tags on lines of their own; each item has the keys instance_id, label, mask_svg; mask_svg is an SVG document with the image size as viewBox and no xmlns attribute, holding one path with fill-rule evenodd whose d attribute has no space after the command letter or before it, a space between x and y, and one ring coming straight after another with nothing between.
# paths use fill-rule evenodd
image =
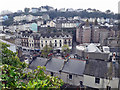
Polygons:
<instances>
[{"instance_id":1,"label":"pale white overcast sky above the hilltop houses","mask_svg":"<svg viewBox=\"0 0 120 90\"><path fill-rule=\"evenodd\" d=\"M73 8L73 9L98 9L100 11L111 10L114 13L118 12L118 2L120 0L1 0L0 12L9 10L16 12L24 10L25 7L31 8L40 6L52 6L54 8Z\"/></svg>"}]
</instances>

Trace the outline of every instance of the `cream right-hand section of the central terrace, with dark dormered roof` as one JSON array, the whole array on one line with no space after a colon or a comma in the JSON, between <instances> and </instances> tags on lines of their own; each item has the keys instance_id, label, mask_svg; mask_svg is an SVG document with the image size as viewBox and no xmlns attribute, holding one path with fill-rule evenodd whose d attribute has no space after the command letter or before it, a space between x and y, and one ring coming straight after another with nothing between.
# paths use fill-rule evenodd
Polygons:
<instances>
[{"instance_id":1,"label":"cream right-hand section of the central terrace, with dark dormered roof","mask_svg":"<svg viewBox=\"0 0 120 90\"><path fill-rule=\"evenodd\" d=\"M72 46L71 35L51 34L41 35L40 48L42 49L45 45L52 46L54 49L61 49L64 44Z\"/></svg>"}]
</instances>

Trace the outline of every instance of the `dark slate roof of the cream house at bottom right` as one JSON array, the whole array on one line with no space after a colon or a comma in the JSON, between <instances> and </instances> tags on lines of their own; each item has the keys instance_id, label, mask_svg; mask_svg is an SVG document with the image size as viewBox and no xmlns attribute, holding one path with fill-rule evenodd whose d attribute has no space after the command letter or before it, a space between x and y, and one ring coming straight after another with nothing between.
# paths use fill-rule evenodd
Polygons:
<instances>
[{"instance_id":1,"label":"dark slate roof of the cream house at bottom right","mask_svg":"<svg viewBox=\"0 0 120 90\"><path fill-rule=\"evenodd\" d=\"M113 64L114 74L113 77L118 77L118 64ZM99 77L99 78L107 78L108 74L108 62L100 61L100 60L89 60L85 66L85 75Z\"/></svg>"}]
</instances>

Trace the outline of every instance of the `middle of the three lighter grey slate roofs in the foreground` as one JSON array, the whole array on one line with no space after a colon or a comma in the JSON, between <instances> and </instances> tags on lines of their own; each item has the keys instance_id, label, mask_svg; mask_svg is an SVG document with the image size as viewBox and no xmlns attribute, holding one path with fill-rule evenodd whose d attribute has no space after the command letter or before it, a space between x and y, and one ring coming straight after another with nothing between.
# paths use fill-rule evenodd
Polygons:
<instances>
[{"instance_id":1,"label":"middle of the three lighter grey slate roofs in the foreground","mask_svg":"<svg viewBox=\"0 0 120 90\"><path fill-rule=\"evenodd\" d=\"M64 64L63 59L52 58L46 65L46 70L51 72L59 72L62 65Z\"/></svg>"}]
</instances>

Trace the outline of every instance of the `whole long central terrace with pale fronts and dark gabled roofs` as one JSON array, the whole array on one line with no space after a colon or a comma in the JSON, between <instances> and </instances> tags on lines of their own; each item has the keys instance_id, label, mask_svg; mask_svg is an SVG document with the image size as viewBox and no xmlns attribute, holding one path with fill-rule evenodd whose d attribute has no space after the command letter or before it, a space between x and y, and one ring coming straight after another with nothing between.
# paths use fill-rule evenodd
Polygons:
<instances>
[{"instance_id":1,"label":"whole long central terrace with pale fronts and dark gabled roofs","mask_svg":"<svg viewBox=\"0 0 120 90\"><path fill-rule=\"evenodd\" d=\"M63 45L72 47L72 35L63 33L23 33L22 46L28 50L42 50L46 45L62 49Z\"/></svg>"}]
</instances>

